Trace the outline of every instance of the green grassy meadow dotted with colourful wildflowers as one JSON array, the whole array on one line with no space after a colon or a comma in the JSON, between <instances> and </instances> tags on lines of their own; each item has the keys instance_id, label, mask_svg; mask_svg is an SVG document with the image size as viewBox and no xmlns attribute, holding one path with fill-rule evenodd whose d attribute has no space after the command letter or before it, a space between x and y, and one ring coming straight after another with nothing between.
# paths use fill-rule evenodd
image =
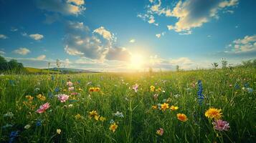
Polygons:
<instances>
[{"instance_id":1,"label":"green grassy meadow dotted with colourful wildflowers","mask_svg":"<svg viewBox=\"0 0 256 143\"><path fill-rule=\"evenodd\" d=\"M0 142L256 140L255 68L0 80Z\"/></svg>"}]
</instances>

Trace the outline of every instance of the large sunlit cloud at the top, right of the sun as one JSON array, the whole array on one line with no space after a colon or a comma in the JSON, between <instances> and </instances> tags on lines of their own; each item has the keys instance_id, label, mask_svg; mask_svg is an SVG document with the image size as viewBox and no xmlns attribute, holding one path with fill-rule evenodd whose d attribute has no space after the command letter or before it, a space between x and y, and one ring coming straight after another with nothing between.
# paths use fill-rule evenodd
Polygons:
<instances>
[{"instance_id":1,"label":"large sunlit cloud at the top, right of the sun","mask_svg":"<svg viewBox=\"0 0 256 143\"><path fill-rule=\"evenodd\" d=\"M202 26L211 19L219 19L219 11L232 14L234 11L228 8L237 5L238 0L180 0L170 9L169 6L162 6L161 0L150 0L150 4L146 6L146 14L138 14L138 17L148 19L148 23L155 23L154 16L174 17L178 21L167 25L167 28L179 34L191 34L192 29Z\"/></svg>"}]
</instances>

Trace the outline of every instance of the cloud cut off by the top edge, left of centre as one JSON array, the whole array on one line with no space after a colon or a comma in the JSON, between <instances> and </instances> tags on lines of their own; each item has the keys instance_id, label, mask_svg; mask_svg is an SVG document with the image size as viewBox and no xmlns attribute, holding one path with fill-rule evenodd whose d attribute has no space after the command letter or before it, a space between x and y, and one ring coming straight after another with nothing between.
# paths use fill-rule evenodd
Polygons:
<instances>
[{"instance_id":1,"label":"cloud cut off by the top edge, left of centre","mask_svg":"<svg viewBox=\"0 0 256 143\"><path fill-rule=\"evenodd\" d=\"M37 0L39 9L54 11L65 15L82 14L85 10L83 0Z\"/></svg>"}]
</instances>

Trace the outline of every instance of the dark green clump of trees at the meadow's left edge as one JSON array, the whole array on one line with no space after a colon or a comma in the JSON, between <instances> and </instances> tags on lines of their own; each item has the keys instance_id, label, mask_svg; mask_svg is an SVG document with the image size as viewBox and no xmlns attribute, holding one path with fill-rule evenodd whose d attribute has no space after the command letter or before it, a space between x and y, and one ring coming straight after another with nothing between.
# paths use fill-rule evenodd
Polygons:
<instances>
[{"instance_id":1,"label":"dark green clump of trees at the meadow's left edge","mask_svg":"<svg viewBox=\"0 0 256 143\"><path fill-rule=\"evenodd\" d=\"M6 61L3 56L0 56L0 73L20 74L26 72L22 63L16 59Z\"/></svg>"}]
</instances>

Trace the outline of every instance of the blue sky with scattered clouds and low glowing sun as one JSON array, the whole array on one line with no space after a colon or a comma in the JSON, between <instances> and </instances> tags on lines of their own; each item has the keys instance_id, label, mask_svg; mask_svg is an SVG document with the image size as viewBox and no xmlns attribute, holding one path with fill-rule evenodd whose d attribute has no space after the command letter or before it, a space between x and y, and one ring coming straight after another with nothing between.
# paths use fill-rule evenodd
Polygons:
<instances>
[{"instance_id":1,"label":"blue sky with scattered clouds and low glowing sun","mask_svg":"<svg viewBox=\"0 0 256 143\"><path fill-rule=\"evenodd\" d=\"M255 0L0 0L0 54L94 71L256 58Z\"/></svg>"}]
</instances>

